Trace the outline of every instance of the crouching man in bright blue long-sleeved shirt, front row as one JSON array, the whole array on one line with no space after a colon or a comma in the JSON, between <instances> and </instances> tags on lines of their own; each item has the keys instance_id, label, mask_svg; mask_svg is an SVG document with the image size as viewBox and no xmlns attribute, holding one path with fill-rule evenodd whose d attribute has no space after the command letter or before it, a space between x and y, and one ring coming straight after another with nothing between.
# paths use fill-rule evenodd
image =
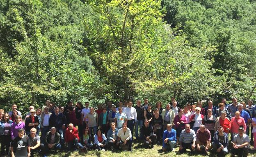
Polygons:
<instances>
[{"instance_id":1,"label":"crouching man in bright blue long-sleeved shirt, front row","mask_svg":"<svg viewBox=\"0 0 256 157\"><path fill-rule=\"evenodd\" d=\"M162 150L165 151L167 150L168 147L170 147L172 151L176 144L177 144L176 130L172 128L171 124L167 124L167 130L165 130L163 134Z\"/></svg>"}]
</instances>

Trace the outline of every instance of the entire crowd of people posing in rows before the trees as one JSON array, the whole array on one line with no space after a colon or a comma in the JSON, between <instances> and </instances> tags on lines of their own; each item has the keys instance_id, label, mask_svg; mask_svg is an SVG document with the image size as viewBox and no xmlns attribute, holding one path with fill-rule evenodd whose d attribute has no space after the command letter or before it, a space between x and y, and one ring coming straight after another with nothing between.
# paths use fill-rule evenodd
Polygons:
<instances>
[{"instance_id":1,"label":"entire crowd of people posing in rows before the trees","mask_svg":"<svg viewBox=\"0 0 256 157\"><path fill-rule=\"evenodd\" d=\"M0 109L1 156L10 152L11 157L33 157L39 152L46 157L49 150L132 151L134 139L143 140L147 148L162 145L163 151L178 146L181 153L213 150L247 157L250 149L256 150L256 106L251 100L246 104L232 98L226 104L223 98L217 106L209 100L205 108L202 102L181 106L173 97L165 108L162 102L151 105L148 99L144 104L137 100L136 105L120 101L117 106L109 101L96 111L89 102L54 106L47 100L42 108L29 110L22 117L16 104L9 113Z\"/></svg>"}]
</instances>

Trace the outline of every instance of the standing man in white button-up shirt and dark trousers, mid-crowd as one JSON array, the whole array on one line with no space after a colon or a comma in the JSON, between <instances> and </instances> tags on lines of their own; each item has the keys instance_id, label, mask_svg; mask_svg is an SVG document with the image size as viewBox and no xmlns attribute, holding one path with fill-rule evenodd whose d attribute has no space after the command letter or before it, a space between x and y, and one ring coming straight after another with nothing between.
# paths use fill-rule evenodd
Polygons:
<instances>
[{"instance_id":1,"label":"standing man in white button-up shirt and dark trousers, mid-crowd","mask_svg":"<svg viewBox=\"0 0 256 157\"><path fill-rule=\"evenodd\" d=\"M124 112L127 116L127 127L130 129L132 133L132 140L133 140L133 128L135 125L135 122L137 122L137 112L136 109L132 106L132 102L128 102L128 107L124 109Z\"/></svg>"}]
</instances>

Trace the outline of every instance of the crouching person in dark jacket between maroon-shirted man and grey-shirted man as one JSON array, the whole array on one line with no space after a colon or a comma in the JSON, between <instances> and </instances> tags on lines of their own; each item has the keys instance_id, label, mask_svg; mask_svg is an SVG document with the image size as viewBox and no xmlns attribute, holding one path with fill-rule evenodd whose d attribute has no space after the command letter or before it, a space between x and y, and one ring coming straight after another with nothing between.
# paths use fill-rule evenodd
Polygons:
<instances>
[{"instance_id":1,"label":"crouching person in dark jacket between maroon-shirted man and grey-shirted man","mask_svg":"<svg viewBox=\"0 0 256 157\"><path fill-rule=\"evenodd\" d=\"M222 126L219 126L213 137L213 152L217 151L217 153L223 153L224 155L226 155L228 153L228 143L228 135L224 133L224 128Z\"/></svg>"}]
</instances>

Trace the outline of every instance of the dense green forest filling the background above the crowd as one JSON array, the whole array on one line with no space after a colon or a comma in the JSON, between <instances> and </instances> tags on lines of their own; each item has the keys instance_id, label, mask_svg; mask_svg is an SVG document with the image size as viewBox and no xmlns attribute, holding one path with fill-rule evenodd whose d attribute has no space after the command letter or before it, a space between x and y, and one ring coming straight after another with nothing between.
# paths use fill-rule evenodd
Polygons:
<instances>
[{"instance_id":1,"label":"dense green forest filling the background above the crowd","mask_svg":"<svg viewBox=\"0 0 256 157\"><path fill-rule=\"evenodd\" d=\"M0 0L0 107L256 99L256 0Z\"/></svg>"}]
</instances>

